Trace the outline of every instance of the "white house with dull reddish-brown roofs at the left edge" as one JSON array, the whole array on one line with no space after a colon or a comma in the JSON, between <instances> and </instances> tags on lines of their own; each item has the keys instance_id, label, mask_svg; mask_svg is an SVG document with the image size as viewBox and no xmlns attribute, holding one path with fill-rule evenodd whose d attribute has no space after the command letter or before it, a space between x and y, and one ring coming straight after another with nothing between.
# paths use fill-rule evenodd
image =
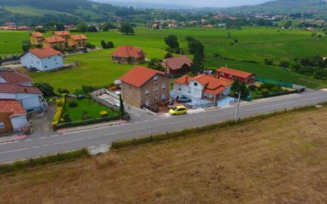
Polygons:
<instances>
[{"instance_id":1,"label":"white house with dull reddish-brown roofs at the left edge","mask_svg":"<svg viewBox=\"0 0 327 204\"><path fill-rule=\"evenodd\" d=\"M42 92L32 86L32 80L26 74L17 72L0 73L0 99L17 100L28 112L45 110L48 105Z\"/></svg>"}]
</instances>

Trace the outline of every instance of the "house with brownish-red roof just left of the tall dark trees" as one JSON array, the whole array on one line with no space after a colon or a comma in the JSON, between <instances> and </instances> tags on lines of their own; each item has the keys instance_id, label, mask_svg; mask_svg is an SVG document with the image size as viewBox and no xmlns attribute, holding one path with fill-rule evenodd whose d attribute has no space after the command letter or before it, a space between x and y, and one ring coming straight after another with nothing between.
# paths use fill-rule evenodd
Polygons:
<instances>
[{"instance_id":1,"label":"house with brownish-red roof just left of the tall dark trees","mask_svg":"<svg viewBox=\"0 0 327 204\"><path fill-rule=\"evenodd\" d=\"M162 66L169 74L185 74L190 71L192 60L183 55L180 57L167 58L162 60Z\"/></svg>"}]
</instances>

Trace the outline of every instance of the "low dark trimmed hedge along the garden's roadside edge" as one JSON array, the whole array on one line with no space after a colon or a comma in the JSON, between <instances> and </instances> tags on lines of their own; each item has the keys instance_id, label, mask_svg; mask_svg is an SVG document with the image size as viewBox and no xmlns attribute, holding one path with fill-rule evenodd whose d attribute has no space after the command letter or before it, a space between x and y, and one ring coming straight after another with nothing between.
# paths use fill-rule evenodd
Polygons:
<instances>
[{"instance_id":1,"label":"low dark trimmed hedge along the garden's roadside edge","mask_svg":"<svg viewBox=\"0 0 327 204\"><path fill-rule=\"evenodd\" d=\"M114 116L110 116L110 117L91 118L88 120L59 123L56 126L54 126L54 130L59 130L59 129L67 128L67 127L77 127L77 126L88 125L88 124L96 124L96 123L100 123L100 122L108 122L108 121L118 120L118 119L129 120L129 115L125 115L123 117L121 117L120 115L114 115Z\"/></svg>"}]
</instances>

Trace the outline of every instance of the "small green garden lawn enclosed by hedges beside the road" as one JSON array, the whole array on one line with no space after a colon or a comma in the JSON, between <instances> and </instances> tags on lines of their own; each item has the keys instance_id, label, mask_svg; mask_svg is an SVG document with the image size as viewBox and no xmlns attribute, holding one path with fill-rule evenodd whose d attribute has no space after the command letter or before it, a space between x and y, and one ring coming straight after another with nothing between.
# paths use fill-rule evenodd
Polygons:
<instances>
[{"instance_id":1,"label":"small green garden lawn enclosed by hedges beside the road","mask_svg":"<svg viewBox=\"0 0 327 204\"><path fill-rule=\"evenodd\" d=\"M82 112L83 109L85 109L92 118L100 118L100 112L101 111L107 111L108 116L113 116L118 114L117 111L113 111L107 107L102 106L101 104L97 103L96 101L92 101L91 99L81 99L78 101L78 107L69 107L68 103L69 100L67 100L67 103L65 105L65 112L64 114L68 114L69 117L71 117L72 121L81 121L82 120Z\"/></svg>"}]
</instances>

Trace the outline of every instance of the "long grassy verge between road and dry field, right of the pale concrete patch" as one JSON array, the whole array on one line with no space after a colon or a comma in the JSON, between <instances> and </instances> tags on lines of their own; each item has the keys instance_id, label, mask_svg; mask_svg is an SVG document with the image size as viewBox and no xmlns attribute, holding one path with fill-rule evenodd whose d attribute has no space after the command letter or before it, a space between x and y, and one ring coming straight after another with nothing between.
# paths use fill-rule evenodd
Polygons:
<instances>
[{"instance_id":1,"label":"long grassy verge between road and dry field, right of the pale concrete patch","mask_svg":"<svg viewBox=\"0 0 327 204\"><path fill-rule=\"evenodd\" d=\"M322 104L322 105L326 105L326 104ZM110 148L119 149L119 148L123 148L123 147L142 145L142 144L146 144L146 143L160 142L160 141L168 140L168 139L172 139L172 138L190 136L190 134L198 135L199 133L206 133L206 132L219 130L222 127L226 127L226 126L233 126L233 125L242 124L245 122L250 122L253 120L262 120L262 119L269 118L269 117L272 117L275 115L281 115L281 114L291 113L291 112L295 112L295 111L311 110L314 108L315 108L314 106L304 106L304 107L294 108L294 109L290 109L290 110L285 109L284 111L278 111L278 112L272 112L272 113L242 118L242 119L239 119L238 121L228 120L225 122L203 125L201 127L193 127L190 129L184 129L181 131L174 131L174 132L167 132L167 133L163 133L163 134L150 135L147 137L135 138L132 140L114 141L111 143Z\"/></svg>"}]
</instances>

